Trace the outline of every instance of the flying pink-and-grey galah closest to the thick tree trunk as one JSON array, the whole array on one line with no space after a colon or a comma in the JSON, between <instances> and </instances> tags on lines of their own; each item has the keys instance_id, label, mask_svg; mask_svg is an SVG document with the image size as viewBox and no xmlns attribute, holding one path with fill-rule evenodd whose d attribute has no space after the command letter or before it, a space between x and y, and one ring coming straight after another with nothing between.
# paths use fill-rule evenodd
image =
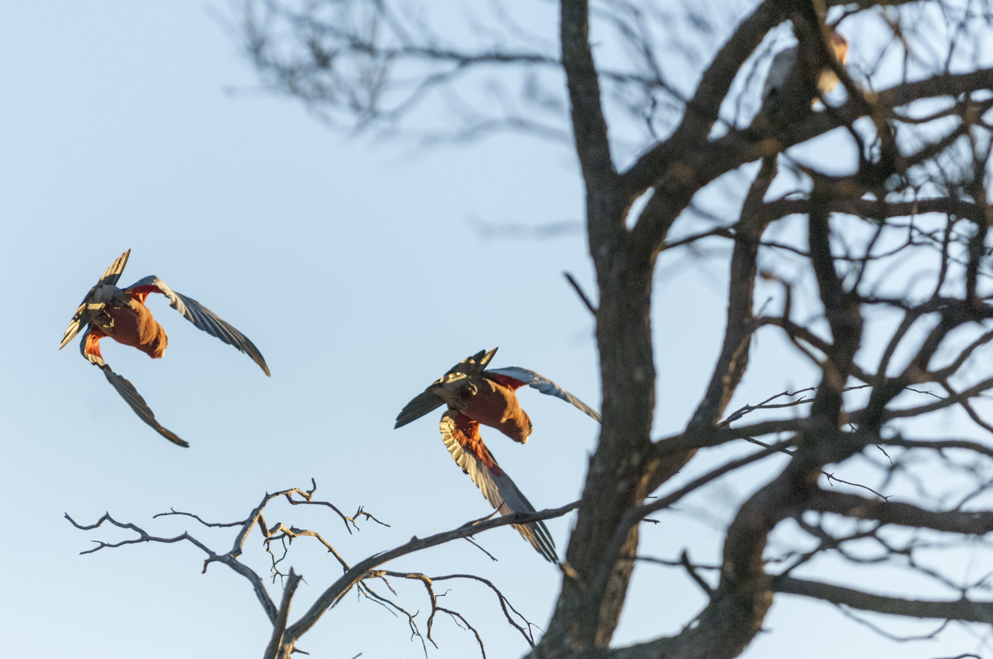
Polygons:
<instances>
[{"instance_id":1,"label":"flying pink-and-grey galah closest to the thick tree trunk","mask_svg":"<svg viewBox=\"0 0 993 659\"><path fill-rule=\"evenodd\" d=\"M441 417L441 437L452 458L469 474L487 501L501 515L534 512L534 507L497 464L483 443L480 424L496 428L514 442L524 444L531 434L531 419L520 409L517 394L525 384L543 394L568 401L600 421L589 405L548 378L532 370L507 366L487 369L497 348L480 350L452 366L423 393L406 404L396 417L394 428L405 426L442 405L448 411ZM513 525L520 535L547 560L555 563L555 543L543 522Z\"/></svg>"}]
</instances>

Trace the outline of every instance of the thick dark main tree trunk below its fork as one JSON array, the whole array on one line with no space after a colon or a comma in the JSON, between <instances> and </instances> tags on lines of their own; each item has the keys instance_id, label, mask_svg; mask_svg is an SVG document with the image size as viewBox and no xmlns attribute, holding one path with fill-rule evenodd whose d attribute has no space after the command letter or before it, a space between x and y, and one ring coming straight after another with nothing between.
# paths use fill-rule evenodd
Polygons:
<instances>
[{"instance_id":1,"label":"thick dark main tree trunk below its fork","mask_svg":"<svg viewBox=\"0 0 993 659\"><path fill-rule=\"evenodd\" d=\"M590 222L597 223L592 217ZM569 542L562 593L535 657L605 647L617 626L631 577L632 561L610 566L604 560L625 513L648 494L645 474L655 385L649 318L653 258L630 261L624 242L622 237L614 249L604 250L599 258L594 255L600 284L597 342L603 429ZM633 556L637 545L636 526L623 556Z\"/></svg>"}]
</instances>

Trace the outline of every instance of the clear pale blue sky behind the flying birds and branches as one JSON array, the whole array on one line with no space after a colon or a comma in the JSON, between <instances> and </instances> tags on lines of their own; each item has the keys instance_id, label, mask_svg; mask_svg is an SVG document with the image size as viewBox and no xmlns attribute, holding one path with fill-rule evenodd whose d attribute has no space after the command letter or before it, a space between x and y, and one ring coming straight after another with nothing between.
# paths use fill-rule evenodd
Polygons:
<instances>
[{"instance_id":1,"label":"clear pale blue sky behind the flying birds and branches","mask_svg":"<svg viewBox=\"0 0 993 659\"><path fill-rule=\"evenodd\" d=\"M91 523L109 511L159 536L189 530L222 552L230 532L151 516L174 507L235 521L264 492L314 477L318 498L348 512L364 506L391 526L363 522L349 535L324 510L278 503L266 521L318 530L357 562L489 512L447 455L435 415L392 430L404 403L453 363L498 345L496 365L532 368L600 402L592 320L561 274L593 290L581 232L520 240L479 230L480 221L581 219L572 153L517 136L416 153L345 139L297 102L257 91L253 70L209 12L225 7L0 1L0 273L12 300L0 326L0 647L12 657L245 657L268 639L247 583L217 564L201 575L193 546L78 556L92 540L132 536L78 531L64 513ZM169 333L164 359L105 341L107 362L188 450L132 414L75 341L56 349L83 294L128 248L122 282L158 275L242 330L272 370L266 378L162 298L149 304ZM723 330L724 266L680 263L656 283L657 299L685 310L654 319L658 436L679 429L698 402ZM780 349L775 340L762 345ZM738 404L813 383L800 362L774 360L749 375ZM528 444L493 431L485 439L536 507L574 500L596 424L537 392L520 398L535 426ZM662 516L642 551L672 558L689 546L694 559L715 561L728 500L758 481L736 482L697 499L690 514ZM571 523L548 523L560 554ZM260 540L253 532L244 559L264 575ZM340 574L307 540L287 561L306 578L291 618ZM557 570L510 528L479 541L497 563L453 543L387 568L484 576L543 626ZM704 603L665 569L638 568L637 579L618 643L678 631ZM879 579L882 591L896 588L897 577ZM423 623L423 590L393 585ZM489 656L526 650L485 589L454 584L445 605L480 630ZM802 644L808 658L897 649L923 659L979 644L956 626L941 640L895 648L837 610L795 597L779 597L766 626L775 633L760 634L746 656L796 657ZM448 618L439 617L434 635L431 657L477 652ZM405 621L352 594L299 645L329 659L423 656Z\"/></svg>"}]
</instances>

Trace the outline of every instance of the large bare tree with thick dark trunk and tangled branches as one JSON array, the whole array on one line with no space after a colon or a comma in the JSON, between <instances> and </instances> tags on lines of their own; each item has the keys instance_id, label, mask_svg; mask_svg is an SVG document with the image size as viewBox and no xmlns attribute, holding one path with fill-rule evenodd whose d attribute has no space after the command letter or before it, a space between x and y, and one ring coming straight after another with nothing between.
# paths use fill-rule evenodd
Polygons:
<instances>
[{"instance_id":1,"label":"large bare tree with thick dark trunk and tangled branches","mask_svg":"<svg viewBox=\"0 0 993 659\"><path fill-rule=\"evenodd\" d=\"M499 2L471 29L446 31L426 5L249 0L239 35L264 83L336 126L429 140L571 133L597 277L596 306L588 303L603 427L561 592L529 656L734 657L777 593L852 615L989 624L987 575L962 581L920 556L985 548L993 531L988 437L928 430L935 413L957 410L993 431L984 418L993 376L983 367L993 339L993 63L983 47L993 39L991 8L985 0L714 4L725 11L638 0L529 9L558 12L553 38ZM832 55L833 29L849 34L848 66ZM763 102L764 67L790 32L794 72ZM687 69L692 75L680 76ZM822 95L825 69L840 84ZM796 149L815 139L830 146ZM718 181L725 192L714 192ZM715 209L725 206L735 214ZM652 344L656 261L701 245L718 245L728 263L726 329L684 430L653 439L655 354L674 347ZM761 333L784 337L819 375L808 389L770 391L728 414ZM732 443L740 457L674 479ZM695 565L685 553L655 559L639 545L649 515L759 461L776 471L734 502L719 565ZM849 469L863 474L858 482L843 479ZM523 521L553 514L564 510ZM378 565L406 551L343 565L346 576L320 601L380 576ZM638 561L685 571L708 603L686 612L679 633L612 647ZM824 579L838 562L899 566L954 595L834 585ZM294 585L290 577L287 602ZM281 607L270 602L267 612L274 638L294 641L320 614L284 628Z\"/></svg>"}]
</instances>

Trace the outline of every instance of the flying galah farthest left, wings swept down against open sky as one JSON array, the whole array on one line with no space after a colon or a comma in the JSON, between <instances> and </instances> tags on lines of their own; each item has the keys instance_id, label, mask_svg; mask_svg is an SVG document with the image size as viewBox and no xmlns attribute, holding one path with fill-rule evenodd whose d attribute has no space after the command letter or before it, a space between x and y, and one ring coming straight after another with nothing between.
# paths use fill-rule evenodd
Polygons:
<instances>
[{"instance_id":1,"label":"flying galah farthest left, wings swept down against open sky","mask_svg":"<svg viewBox=\"0 0 993 659\"><path fill-rule=\"evenodd\" d=\"M100 277L100 281L89 289L89 293L75 310L75 316L72 317L69 328L63 334L59 349L64 348L80 329L85 328L86 332L79 342L82 356L89 363L103 370L107 382L113 385L142 421L170 442L181 447L189 447L189 444L159 425L145 399L130 382L110 370L110 366L100 355L100 339L109 336L118 343L138 348L153 359L161 357L166 345L169 344L169 338L166 336L166 330L152 318L152 312L145 306L145 299L150 293L161 293L169 298L170 307L183 314L197 328L247 353L262 367L266 375L269 374L269 367L265 365L262 353L244 334L221 321L210 309L193 298L170 290L158 277L145 277L125 289L117 288L117 280L124 272L130 254L130 249L121 254L110 264Z\"/></svg>"}]
</instances>

